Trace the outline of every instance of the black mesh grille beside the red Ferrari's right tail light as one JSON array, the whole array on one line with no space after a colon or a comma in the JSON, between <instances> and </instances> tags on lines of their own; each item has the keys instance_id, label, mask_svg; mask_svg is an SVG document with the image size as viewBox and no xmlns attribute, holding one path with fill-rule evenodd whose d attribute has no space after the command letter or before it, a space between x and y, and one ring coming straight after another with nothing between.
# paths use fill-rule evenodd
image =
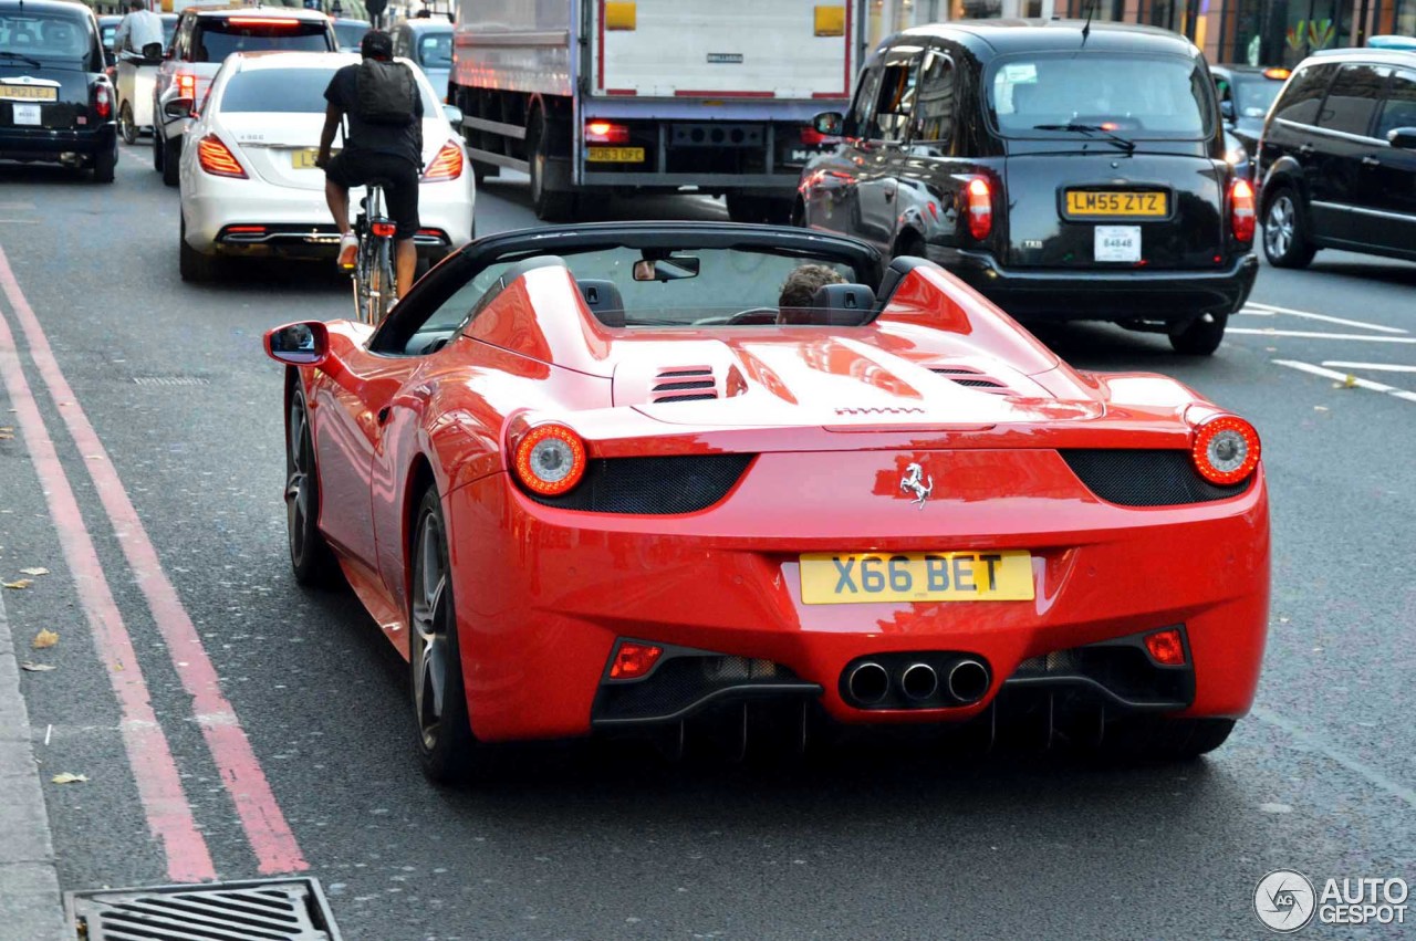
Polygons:
<instances>
[{"instance_id":1,"label":"black mesh grille beside the red Ferrari's right tail light","mask_svg":"<svg viewBox=\"0 0 1416 941\"><path fill-rule=\"evenodd\" d=\"M1189 451L1076 449L1058 453L1087 490L1123 507L1202 504L1249 488L1247 480L1225 487L1211 484L1195 471Z\"/></svg>"}]
</instances>

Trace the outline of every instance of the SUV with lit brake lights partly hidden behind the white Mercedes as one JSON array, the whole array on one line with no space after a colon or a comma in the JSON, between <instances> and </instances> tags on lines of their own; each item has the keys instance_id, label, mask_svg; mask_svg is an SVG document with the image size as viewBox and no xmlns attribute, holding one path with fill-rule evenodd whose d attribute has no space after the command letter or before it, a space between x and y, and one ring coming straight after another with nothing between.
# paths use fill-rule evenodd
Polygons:
<instances>
[{"instance_id":1,"label":"SUV with lit brake lights partly hidden behind the white Mercedes","mask_svg":"<svg viewBox=\"0 0 1416 941\"><path fill-rule=\"evenodd\" d=\"M221 62L232 52L336 52L340 44L330 18L319 10L293 7L187 7L153 89L153 168L177 185L183 132L195 120ZM176 99L191 109L169 109Z\"/></svg>"}]
</instances>

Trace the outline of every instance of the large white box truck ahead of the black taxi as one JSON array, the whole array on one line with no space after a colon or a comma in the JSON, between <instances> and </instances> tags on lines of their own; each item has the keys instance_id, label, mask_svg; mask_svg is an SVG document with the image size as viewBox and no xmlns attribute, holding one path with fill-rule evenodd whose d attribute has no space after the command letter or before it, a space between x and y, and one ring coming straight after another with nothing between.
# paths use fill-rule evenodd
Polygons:
<instances>
[{"instance_id":1,"label":"large white box truck ahead of the black taxi","mask_svg":"<svg viewBox=\"0 0 1416 941\"><path fill-rule=\"evenodd\" d=\"M542 219L697 187L786 222L862 35L862 0L462 0L447 100L479 180L530 174Z\"/></svg>"}]
</instances>

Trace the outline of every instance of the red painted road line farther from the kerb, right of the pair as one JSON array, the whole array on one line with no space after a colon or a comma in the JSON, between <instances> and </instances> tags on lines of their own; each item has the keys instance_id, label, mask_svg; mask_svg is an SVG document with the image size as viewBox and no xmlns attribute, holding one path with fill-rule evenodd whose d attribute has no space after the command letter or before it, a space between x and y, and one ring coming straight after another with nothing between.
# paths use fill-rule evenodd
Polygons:
<instances>
[{"instance_id":1,"label":"red painted road line farther from the kerb, right of the pair","mask_svg":"<svg viewBox=\"0 0 1416 941\"><path fill-rule=\"evenodd\" d=\"M25 340L30 344L30 358L34 361L44 385L55 402L69 402L69 408L59 409L64 423L69 429L79 453L95 456L98 460L88 461L89 475L93 478L99 501L113 525L115 532L122 538L119 545L127 558L127 565L133 570L147 607L153 613L159 633L166 641L167 654L173 668L181 678L183 688L191 696L191 708L195 715L229 716L224 723L201 723L202 737L207 749L217 763L217 770L227 787L241 818L241 825L246 831L251 849L255 850L259 872L262 874L287 873L309 869L309 863L300 853L276 804L270 784L266 781L261 761L256 758L241 727L231 703L221 692L221 679L217 668L207 657L187 608L177 597L177 589L163 570L157 559L157 549L147 535L147 529L137 518L133 501L129 500L123 481L119 480L113 463L108 457L108 449L89 425L88 416L79 406L78 396L69 388L68 381L59 369L50 341L44 335L40 318L34 316L28 301L20 290L20 282L10 270L10 262L0 249L0 289L4 290L14 307Z\"/></svg>"}]
</instances>

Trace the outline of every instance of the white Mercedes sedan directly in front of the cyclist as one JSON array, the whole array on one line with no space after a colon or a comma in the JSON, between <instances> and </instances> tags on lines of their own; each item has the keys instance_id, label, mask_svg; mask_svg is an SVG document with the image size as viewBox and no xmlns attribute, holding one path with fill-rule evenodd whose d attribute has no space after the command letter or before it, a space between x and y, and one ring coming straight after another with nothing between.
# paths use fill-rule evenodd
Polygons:
<instances>
[{"instance_id":1,"label":"white Mercedes sedan directly in front of the cyclist","mask_svg":"<svg viewBox=\"0 0 1416 941\"><path fill-rule=\"evenodd\" d=\"M224 258L326 258L338 235L314 166L324 126L324 89L334 72L360 61L337 52L232 54L183 134L183 280L218 275ZM405 61L405 59L399 59ZM423 96L423 175L418 191L419 259L436 262L473 238L476 188L462 115L416 68ZM191 108L171 102L167 108ZM338 151L341 139L336 137ZM350 194L358 211L362 190Z\"/></svg>"}]
</instances>

